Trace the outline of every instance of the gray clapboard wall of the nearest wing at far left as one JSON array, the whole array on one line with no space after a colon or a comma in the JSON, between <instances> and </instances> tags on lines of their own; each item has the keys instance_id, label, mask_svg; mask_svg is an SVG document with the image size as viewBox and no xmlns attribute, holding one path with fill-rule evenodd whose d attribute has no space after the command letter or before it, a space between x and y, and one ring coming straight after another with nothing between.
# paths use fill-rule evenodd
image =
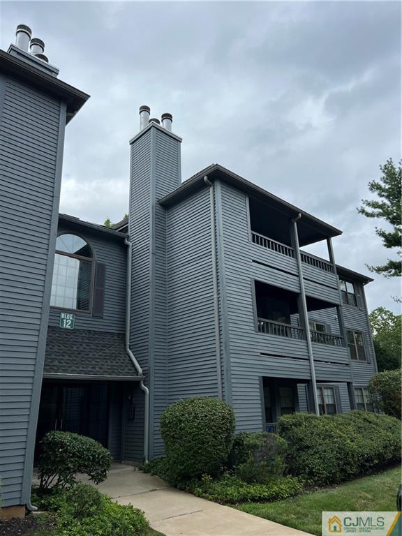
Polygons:
<instances>
[{"instance_id":1,"label":"gray clapboard wall of the nearest wing at far left","mask_svg":"<svg viewBox=\"0 0 402 536\"><path fill-rule=\"evenodd\" d=\"M1 88L0 430L10 448L0 450L0 479L7 506L29 500L66 112L21 82L0 77L0 95Z\"/></svg>"}]
</instances>

